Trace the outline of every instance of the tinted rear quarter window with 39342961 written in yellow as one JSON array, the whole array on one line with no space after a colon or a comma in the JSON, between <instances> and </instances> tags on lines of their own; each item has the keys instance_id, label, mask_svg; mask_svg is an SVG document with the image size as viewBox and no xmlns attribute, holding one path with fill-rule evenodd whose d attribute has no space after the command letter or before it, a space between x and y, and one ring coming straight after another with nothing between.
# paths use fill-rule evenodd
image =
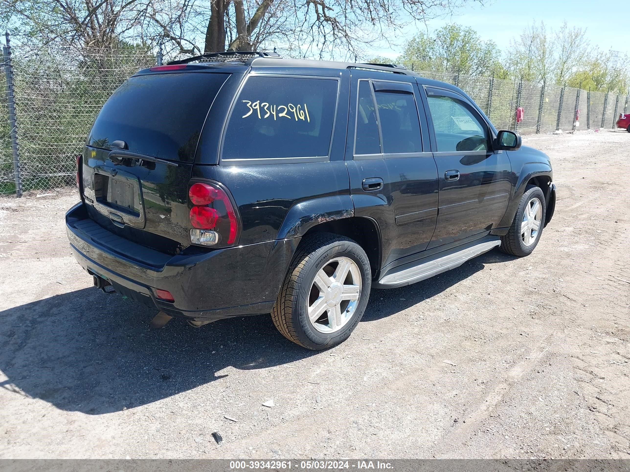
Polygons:
<instances>
[{"instance_id":1,"label":"tinted rear quarter window with 39342961 written in yellow","mask_svg":"<svg viewBox=\"0 0 630 472\"><path fill-rule=\"evenodd\" d=\"M336 79L251 76L236 99L222 159L327 157Z\"/></svg>"}]
</instances>

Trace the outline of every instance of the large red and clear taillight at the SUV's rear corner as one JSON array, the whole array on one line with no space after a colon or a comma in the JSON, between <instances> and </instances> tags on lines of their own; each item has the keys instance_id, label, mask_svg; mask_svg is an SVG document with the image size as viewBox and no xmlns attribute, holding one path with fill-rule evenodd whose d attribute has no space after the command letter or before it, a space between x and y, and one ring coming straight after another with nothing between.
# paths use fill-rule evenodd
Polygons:
<instances>
[{"instance_id":1,"label":"large red and clear taillight at the SUV's rear corner","mask_svg":"<svg viewBox=\"0 0 630 472\"><path fill-rule=\"evenodd\" d=\"M207 246L231 245L238 238L239 221L227 189L218 183L195 182L188 189L190 242Z\"/></svg>"}]
</instances>

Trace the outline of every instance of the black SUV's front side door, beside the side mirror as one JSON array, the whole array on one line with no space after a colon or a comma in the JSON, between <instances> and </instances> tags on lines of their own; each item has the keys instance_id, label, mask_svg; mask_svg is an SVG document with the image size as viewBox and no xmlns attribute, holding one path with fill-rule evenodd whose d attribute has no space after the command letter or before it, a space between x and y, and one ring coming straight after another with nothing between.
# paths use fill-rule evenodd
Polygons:
<instances>
[{"instance_id":1,"label":"black SUV's front side door, beside the side mirror","mask_svg":"<svg viewBox=\"0 0 630 472\"><path fill-rule=\"evenodd\" d=\"M491 147L491 130L463 96L424 87L439 177L437 226L428 249L496 228L505 214L512 166Z\"/></svg>"}]
</instances>

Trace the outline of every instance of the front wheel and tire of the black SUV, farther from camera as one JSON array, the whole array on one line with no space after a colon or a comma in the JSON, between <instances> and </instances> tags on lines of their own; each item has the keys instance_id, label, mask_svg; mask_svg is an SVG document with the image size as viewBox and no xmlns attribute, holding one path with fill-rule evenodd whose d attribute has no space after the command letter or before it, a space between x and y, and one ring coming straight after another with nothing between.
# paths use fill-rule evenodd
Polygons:
<instances>
[{"instance_id":1,"label":"front wheel and tire of the black SUV, farther from camera","mask_svg":"<svg viewBox=\"0 0 630 472\"><path fill-rule=\"evenodd\" d=\"M540 211L534 211L536 214L535 218L531 218L532 213L532 203L536 203L535 199L538 199L540 204ZM526 209L529 207L529 213L527 214L527 220L530 222L532 220L536 220L539 222L539 226L537 229L534 229L535 226L529 227L525 232L522 232L524 221L524 215ZM538 245L539 240L541 240L542 228L544 228L545 216L546 216L546 202L545 196L542 193L540 187L535 185L528 185L525 188L525 193L520 199L520 203L518 203L518 209L516 211L516 215L514 215L514 220L512 225L510 226L510 230L505 236L501 236L501 250L507 254L512 256L524 257L532 254L532 251ZM532 223L530 223L532 225ZM527 231L531 231L528 233ZM534 234L534 230L536 233ZM529 243L529 244L528 244Z\"/></svg>"}]
</instances>

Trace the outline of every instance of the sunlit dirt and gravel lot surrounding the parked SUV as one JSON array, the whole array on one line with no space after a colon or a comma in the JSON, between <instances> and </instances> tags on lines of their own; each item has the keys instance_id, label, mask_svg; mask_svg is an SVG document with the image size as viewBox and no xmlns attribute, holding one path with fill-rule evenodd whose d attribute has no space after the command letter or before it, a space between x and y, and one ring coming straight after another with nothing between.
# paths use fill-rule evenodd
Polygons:
<instances>
[{"instance_id":1,"label":"sunlit dirt and gravel lot surrounding the parked SUV","mask_svg":"<svg viewBox=\"0 0 630 472\"><path fill-rule=\"evenodd\" d=\"M630 458L630 134L524 141L558 184L534 254L374 290L319 353L268 315L151 330L72 258L76 194L1 198L0 457Z\"/></svg>"}]
</instances>

